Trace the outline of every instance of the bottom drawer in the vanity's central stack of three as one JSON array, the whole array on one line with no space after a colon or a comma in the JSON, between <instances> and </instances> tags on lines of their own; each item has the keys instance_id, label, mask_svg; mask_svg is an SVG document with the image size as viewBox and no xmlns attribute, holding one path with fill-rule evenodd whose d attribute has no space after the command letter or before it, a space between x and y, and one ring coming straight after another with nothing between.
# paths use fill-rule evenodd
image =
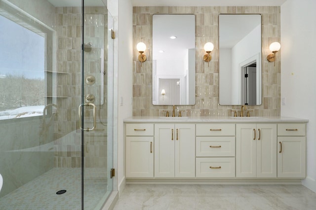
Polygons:
<instances>
[{"instance_id":1,"label":"bottom drawer in the vanity's central stack of three","mask_svg":"<svg viewBox=\"0 0 316 210\"><path fill-rule=\"evenodd\" d=\"M196 158L196 177L235 177L235 157Z\"/></svg>"}]
</instances>

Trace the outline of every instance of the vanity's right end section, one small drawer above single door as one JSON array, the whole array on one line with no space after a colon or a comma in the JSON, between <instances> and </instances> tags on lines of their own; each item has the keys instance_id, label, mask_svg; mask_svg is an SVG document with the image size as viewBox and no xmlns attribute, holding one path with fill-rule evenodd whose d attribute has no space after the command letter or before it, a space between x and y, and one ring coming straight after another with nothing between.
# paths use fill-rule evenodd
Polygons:
<instances>
[{"instance_id":1,"label":"vanity's right end section, one small drawer above single door","mask_svg":"<svg viewBox=\"0 0 316 210\"><path fill-rule=\"evenodd\" d=\"M305 136L305 123L282 123L277 125L277 177L305 178Z\"/></svg>"}]
</instances>

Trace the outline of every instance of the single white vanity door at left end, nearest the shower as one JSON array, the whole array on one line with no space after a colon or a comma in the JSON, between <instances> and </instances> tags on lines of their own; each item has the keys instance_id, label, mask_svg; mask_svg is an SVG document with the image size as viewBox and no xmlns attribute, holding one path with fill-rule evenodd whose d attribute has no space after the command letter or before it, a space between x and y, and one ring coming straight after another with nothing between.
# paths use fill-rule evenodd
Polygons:
<instances>
[{"instance_id":1,"label":"single white vanity door at left end, nearest the shower","mask_svg":"<svg viewBox=\"0 0 316 210\"><path fill-rule=\"evenodd\" d=\"M126 137L126 178L154 177L154 137Z\"/></svg>"}]
</instances>

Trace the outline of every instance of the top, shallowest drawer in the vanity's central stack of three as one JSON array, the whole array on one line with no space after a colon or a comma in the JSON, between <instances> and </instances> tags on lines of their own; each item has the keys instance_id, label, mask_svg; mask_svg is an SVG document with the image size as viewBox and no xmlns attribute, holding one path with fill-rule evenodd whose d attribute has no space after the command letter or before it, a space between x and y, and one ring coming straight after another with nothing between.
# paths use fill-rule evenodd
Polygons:
<instances>
[{"instance_id":1,"label":"top, shallowest drawer in the vanity's central stack of three","mask_svg":"<svg viewBox=\"0 0 316 210\"><path fill-rule=\"evenodd\" d=\"M235 124L197 124L197 136L235 136Z\"/></svg>"}]
</instances>

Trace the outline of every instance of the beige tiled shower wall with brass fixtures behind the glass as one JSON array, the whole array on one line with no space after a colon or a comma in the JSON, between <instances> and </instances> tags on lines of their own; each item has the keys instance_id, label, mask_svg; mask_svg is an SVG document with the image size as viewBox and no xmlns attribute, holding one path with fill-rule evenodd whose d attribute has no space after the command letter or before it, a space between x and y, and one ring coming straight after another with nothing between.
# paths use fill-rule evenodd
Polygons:
<instances>
[{"instance_id":1,"label":"beige tiled shower wall with brass fixtures behind the glass","mask_svg":"<svg viewBox=\"0 0 316 210\"><path fill-rule=\"evenodd\" d=\"M93 85L84 84L84 93L94 94L97 106L97 130L84 133L84 167L101 168L107 164L107 104L100 104L100 53L107 59L107 8L84 8L84 42L92 43L92 50L84 52L84 78L93 75ZM58 120L55 125L54 166L81 167L81 132L78 107L81 104L81 7L56 7L57 32L56 98ZM104 51L101 51L101 48ZM107 67L107 61L104 60ZM106 70L106 69L105 69ZM105 77L105 76L104 76ZM104 93L107 92L104 79ZM99 98L98 98L99 97ZM92 127L92 108L85 107L85 126Z\"/></svg>"}]
</instances>

